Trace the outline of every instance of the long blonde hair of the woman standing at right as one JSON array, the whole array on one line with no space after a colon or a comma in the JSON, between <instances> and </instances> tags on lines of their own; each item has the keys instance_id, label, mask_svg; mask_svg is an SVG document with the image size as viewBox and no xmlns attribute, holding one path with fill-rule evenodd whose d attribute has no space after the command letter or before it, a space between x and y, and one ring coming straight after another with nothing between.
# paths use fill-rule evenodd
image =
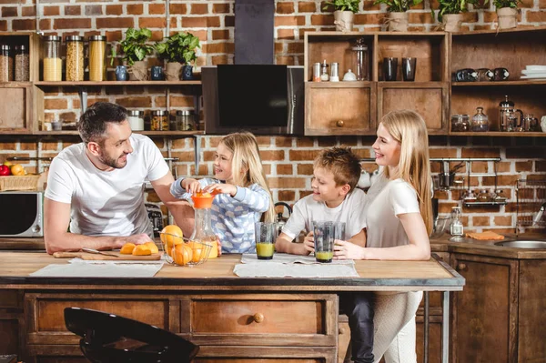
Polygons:
<instances>
[{"instance_id":1,"label":"long blonde hair of the woman standing at right","mask_svg":"<svg viewBox=\"0 0 546 363\"><path fill-rule=\"evenodd\" d=\"M400 144L399 177L417 191L420 214L427 232L432 232L432 204L430 201L429 136L423 118L410 110L392 111L383 116L381 124ZM389 168L385 169L389 177Z\"/></svg>"}]
</instances>

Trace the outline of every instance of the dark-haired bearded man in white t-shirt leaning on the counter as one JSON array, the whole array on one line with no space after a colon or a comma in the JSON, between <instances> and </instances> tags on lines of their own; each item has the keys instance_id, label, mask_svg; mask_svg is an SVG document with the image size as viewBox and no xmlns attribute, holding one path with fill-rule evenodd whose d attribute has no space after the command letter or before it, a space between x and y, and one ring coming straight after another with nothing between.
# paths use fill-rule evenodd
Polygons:
<instances>
[{"instance_id":1,"label":"dark-haired bearded man in white t-shirt leaning on the counter","mask_svg":"<svg viewBox=\"0 0 546 363\"><path fill-rule=\"evenodd\" d=\"M66 147L49 168L47 253L149 241L153 232L144 205L145 179L185 234L191 232L193 209L170 194L174 178L167 163L147 136L132 134L124 107L97 102L80 117L78 130L83 143Z\"/></svg>"}]
</instances>

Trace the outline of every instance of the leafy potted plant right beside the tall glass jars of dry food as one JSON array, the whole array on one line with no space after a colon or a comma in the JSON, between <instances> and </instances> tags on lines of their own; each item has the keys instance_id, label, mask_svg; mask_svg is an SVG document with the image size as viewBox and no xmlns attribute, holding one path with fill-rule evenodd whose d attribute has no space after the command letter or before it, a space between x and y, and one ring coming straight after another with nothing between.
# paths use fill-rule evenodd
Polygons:
<instances>
[{"instance_id":1,"label":"leafy potted plant right beside the tall glass jars of dry food","mask_svg":"<svg viewBox=\"0 0 546 363\"><path fill-rule=\"evenodd\" d=\"M146 56L154 51L153 45L147 45L147 41L152 36L152 32L147 28L134 29L128 28L126 38L119 44L123 52L123 61L129 67L129 77L131 80L143 81L147 79ZM116 56L116 48L112 47L112 62Z\"/></svg>"}]
</instances>

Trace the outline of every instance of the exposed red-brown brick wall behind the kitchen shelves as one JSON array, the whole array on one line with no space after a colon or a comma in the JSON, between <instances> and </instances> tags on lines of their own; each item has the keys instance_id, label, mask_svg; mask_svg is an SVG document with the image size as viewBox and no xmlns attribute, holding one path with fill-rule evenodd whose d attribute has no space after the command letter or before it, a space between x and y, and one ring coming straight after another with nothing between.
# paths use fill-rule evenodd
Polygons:
<instances>
[{"instance_id":1,"label":"exposed red-brown brick wall behind the kitchen shelves","mask_svg":"<svg viewBox=\"0 0 546 363\"><path fill-rule=\"evenodd\" d=\"M278 64L303 64L303 34L305 31L333 30L333 15L322 10L319 1L276 1L275 52ZM127 27L147 27L153 32L153 40L160 40L167 33L190 31L201 40L202 48L197 55L198 66L233 63L234 51L234 1L181 1L181 0L41 0L36 8L33 0L0 0L0 31L39 30L45 35L106 35L116 46ZM435 1L424 1L410 11L410 29L430 31L437 24L430 16L430 7L436 9ZM167 16L168 9L168 16ZM546 1L524 0L521 4L521 26L546 25ZM359 14L355 16L357 30L379 29L385 16L384 7L363 1ZM494 7L471 10L465 15L463 27L470 30L493 27L496 20ZM168 30L167 30L168 28ZM114 60L114 66L119 59ZM149 65L158 65L150 58ZM113 69L113 68L112 68ZM184 87L171 90L168 95L161 87L91 87L88 103L97 100L116 102L122 106L139 109L165 107L172 109L193 107L193 96ZM48 87L45 89L45 118L59 118L66 123L74 122L80 115L80 101L76 88ZM201 160L195 170L194 139L157 138L157 146L165 156L177 156L177 174L182 176L212 174L211 160L217 136L200 136ZM78 142L76 136L44 138L14 138L0 136L0 161L9 156L56 156L63 147ZM308 195L312 159L322 147L335 145L353 146L359 156L371 156L373 138L362 137L259 137L264 166L268 173L269 186L275 200L294 202ZM498 188L509 197L506 207L463 208L463 219L469 230L495 228L513 231L515 226L515 188L518 178L546 178L546 146L543 138L482 138L482 137L432 137L432 157L501 157L497 166ZM35 162L25 164L31 172L39 172L43 165ZM373 163L365 163L371 171ZM472 172L493 172L493 163L476 163ZM432 163L434 173L440 171L439 163ZM460 169L457 178L465 176ZM473 189L493 189L494 178L473 177ZM457 205L461 188L437 192L441 198L440 213L450 212ZM150 201L157 196L150 194Z\"/></svg>"}]
</instances>

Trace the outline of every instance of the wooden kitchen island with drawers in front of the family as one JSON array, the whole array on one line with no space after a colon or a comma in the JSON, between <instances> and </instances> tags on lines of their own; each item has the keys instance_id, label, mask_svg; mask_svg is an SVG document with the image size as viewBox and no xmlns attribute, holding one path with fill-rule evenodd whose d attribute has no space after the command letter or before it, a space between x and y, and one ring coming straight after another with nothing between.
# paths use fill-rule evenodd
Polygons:
<instances>
[{"instance_id":1,"label":"wooden kitchen island with drawers in front of the family","mask_svg":"<svg viewBox=\"0 0 546 363\"><path fill-rule=\"evenodd\" d=\"M0 337L25 362L85 362L64 308L92 308L175 332L200 346L197 362L337 361L338 294L344 291L462 290L464 278L430 261L356 261L359 277L241 278L240 255L198 267L165 265L155 277L29 277L45 253L3 252ZM449 298L444 298L444 314ZM448 322L449 318L444 318ZM444 341L448 326L442 328ZM447 359L447 346L443 349ZM447 362L447 360L444 360Z\"/></svg>"}]
</instances>

